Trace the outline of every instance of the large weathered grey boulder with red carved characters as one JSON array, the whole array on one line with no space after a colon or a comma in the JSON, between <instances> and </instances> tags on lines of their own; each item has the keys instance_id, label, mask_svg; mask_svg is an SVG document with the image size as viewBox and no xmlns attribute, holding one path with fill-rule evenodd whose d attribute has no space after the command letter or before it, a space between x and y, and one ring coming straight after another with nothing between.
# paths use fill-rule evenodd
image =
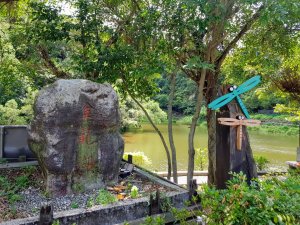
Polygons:
<instances>
[{"instance_id":1,"label":"large weathered grey boulder with red carved characters","mask_svg":"<svg viewBox=\"0 0 300 225\"><path fill-rule=\"evenodd\" d=\"M124 142L118 97L109 84L58 80L38 94L28 129L53 196L118 179Z\"/></svg>"}]
</instances>

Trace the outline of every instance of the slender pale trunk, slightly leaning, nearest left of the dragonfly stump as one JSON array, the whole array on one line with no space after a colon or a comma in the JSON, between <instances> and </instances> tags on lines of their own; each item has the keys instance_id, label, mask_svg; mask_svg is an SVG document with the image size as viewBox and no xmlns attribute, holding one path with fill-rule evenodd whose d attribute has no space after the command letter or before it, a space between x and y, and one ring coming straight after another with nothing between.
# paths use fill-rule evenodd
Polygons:
<instances>
[{"instance_id":1,"label":"slender pale trunk, slightly leaning, nearest left of the dragonfly stump","mask_svg":"<svg viewBox=\"0 0 300 225\"><path fill-rule=\"evenodd\" d=\"M194 147L194 136L195 136L195 130L197 126L197 121L200 116L200 110L201 110L201 104L203 100L203 89L204 89L204 83L205 83L205 77L206 77L206 69L201 70L201 78L198 83L198 95L197 95L197 102L196 102L196 109L195 113L192 118L192 123L190 127L189 132L189 158L188 158L188 173L187 173L187 187L189 188L189 183L193 179L194 175L194 167L195 167L195 147Z\"/></svg>"}]
</instances>

